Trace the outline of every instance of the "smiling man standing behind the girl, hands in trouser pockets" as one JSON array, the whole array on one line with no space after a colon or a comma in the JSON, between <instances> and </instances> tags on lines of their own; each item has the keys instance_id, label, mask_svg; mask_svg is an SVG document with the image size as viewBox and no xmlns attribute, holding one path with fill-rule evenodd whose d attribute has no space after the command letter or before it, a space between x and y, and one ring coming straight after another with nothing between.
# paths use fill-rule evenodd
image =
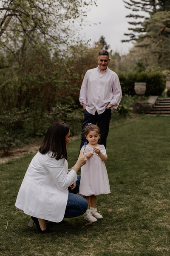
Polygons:
<instances>
[{"instance_id":1,"label":"smiling man standing behind the girl, hands in trouser pockets","mask_svg":"<svg viewBox=\"0 0 170 256\"><path fill-rule=\"evenodd\" d=\"M106 148L111 109L116 109L122 99L119 78L115 72L108 69L109 53L99 52L97 60L99 66L85 73L80 89L79 102L84 109L80 148L85 142L84 128L87 123L97 123L101 134L99 144L103 144Z\"/></svg>"}]
</instances>

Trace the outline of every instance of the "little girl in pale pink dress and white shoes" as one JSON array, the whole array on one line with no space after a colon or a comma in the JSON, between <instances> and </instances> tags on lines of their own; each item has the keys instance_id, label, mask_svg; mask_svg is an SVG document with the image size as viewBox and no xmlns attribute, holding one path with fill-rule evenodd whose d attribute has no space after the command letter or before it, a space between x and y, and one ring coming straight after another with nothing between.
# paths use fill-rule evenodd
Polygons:
<instances>
[{"instance_id":1,"label":"little girl in pale pink dress and white shoes","mask_svg":"<svg viewBox=\"0 0 170 256\"><path fill-rule=\"evenodd\" d=\"M85 154L88 160L81 167L79 194L83 195L88 201L85 220L95 222L98 218L103 218L96 209L96 195L111 193L108 173L104 163L108 157L105 146L97 144L100 138L98 126L91 123L86 125L85 137L88 140L88 145L82 147L79 157ZM90 208L89 204L91 204Z\"/></svg>"}]
</instances>

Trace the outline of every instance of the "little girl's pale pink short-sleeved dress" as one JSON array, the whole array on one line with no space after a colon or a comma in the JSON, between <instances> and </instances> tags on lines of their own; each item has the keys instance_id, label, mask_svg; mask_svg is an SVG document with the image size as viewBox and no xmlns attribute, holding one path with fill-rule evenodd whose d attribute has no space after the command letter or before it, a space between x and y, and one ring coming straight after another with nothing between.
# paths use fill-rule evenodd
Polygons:
<instances>
[{"instance_id":1,"label":"little girl's pale pink short-sleeved dress","mask_svg":"<svg viewBox=\"0 0 170 256\"><path fill-rule=\"evenodd\" d=\"M103 154L106 154L104 145L98 145L97 148L99 148ZM82 147L82 152L83 151L84 147ZM85 153L87 152L93 152L93 148L87 145ZM88 158L85 165L81 167L79 194L89 196L109 193L111 193L111 191L105 163L98 154L94 153L93 157Z\"/></svg>"}]
</instances>

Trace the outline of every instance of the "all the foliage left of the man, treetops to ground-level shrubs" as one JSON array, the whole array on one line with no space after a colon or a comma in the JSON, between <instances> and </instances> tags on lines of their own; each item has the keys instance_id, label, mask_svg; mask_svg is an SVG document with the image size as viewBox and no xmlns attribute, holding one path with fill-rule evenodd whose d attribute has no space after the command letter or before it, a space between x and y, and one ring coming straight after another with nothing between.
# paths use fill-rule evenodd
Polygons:
<instances>
[{"instance_id":1,"label":"all the foliage left of the man, treetops to ground-level shrubs","mask_svg":"<svg viewBox=\"0 0 170 256\"><path fill-rule=\"evenodd\" d=\"M53 120L72 127L75 119L81 119L79 111L75 113L79 86L85 71L93 67L94 53L86 52L75 29L82 26L95 2L0 0L0 149L4 154L44 134ZM80 65L80 59L86 64Z\"/></svg>"}]
</instances>

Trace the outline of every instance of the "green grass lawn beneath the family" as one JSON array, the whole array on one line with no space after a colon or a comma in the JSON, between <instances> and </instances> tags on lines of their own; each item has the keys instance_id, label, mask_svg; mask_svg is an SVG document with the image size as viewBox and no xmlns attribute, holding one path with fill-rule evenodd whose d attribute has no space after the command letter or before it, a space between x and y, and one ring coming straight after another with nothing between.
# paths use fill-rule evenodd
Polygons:
<instances>
[{"instance_id":1,"label":"green grass lawn beneath the family","mask_svg":"<svg viewBox=\"0 0 170 256\"><path fill-rule=\"evenodd\" d=\"M79 143L68 144L70 168ZM169 256L169 149L169 116L140 116L111 127L106 161L111 194L99 195L97 204L104 218L87 227L83 216L50 223L47 234L29 228L29 216L14 206L33 155L0 165L0 255Z\"/></svg>"}]
</instances>

